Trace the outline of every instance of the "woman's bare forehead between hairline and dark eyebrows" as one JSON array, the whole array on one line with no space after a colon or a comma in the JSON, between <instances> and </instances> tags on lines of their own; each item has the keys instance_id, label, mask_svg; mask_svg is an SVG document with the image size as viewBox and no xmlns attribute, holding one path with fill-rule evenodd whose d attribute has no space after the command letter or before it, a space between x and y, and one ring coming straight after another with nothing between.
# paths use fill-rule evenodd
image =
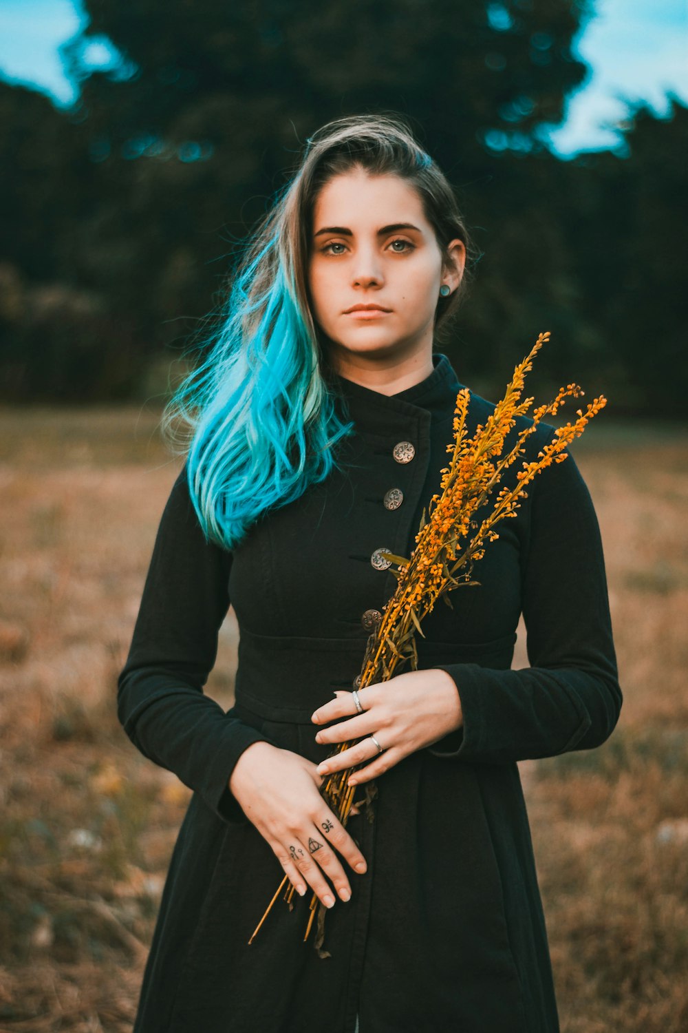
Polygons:
<instances>
[{"instance_id":1,"label":"woman's bare forehead between hairline and dark eyebrows","mask_svg":"<svg viewBox=\"0 0 688 1033\"><path fill-rule=\"evenodd\" d=\"M399 176L371 176L352 169L333 177L320 190L314 204L314 229L321 226L367 227L394 222L414 222L429 229L417 191Z\"/></svg>"}]
</instances>

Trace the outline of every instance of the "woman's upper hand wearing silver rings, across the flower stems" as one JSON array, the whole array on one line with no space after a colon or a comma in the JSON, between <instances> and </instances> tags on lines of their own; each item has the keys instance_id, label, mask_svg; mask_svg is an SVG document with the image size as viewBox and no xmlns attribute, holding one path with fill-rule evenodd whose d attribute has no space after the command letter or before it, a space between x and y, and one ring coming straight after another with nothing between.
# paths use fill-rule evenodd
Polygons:
<instances>
[{"instance_id":1,"label":"woman's upper hand wearing silver rings, across the flower stems","mask_svg":"<svg viewBox=\"0 0 688 1033\"><path fill-rule=\"evenodd\" d=\"M436 743L463 724L454 679L435 667L405 671L387 682L367 685L358 694L362 714L356 710L353 693L339 691L336 699L319 707L310 718L315 724L342 719L322 728L316 735L318 743L346 743L368 737L318 765L319 775L329 775L369 760L369 764L352 774L349 785L382 775L409 753ZM382 753L369 738L371 734L383 747Z\"/></svg>"}]
</instances>

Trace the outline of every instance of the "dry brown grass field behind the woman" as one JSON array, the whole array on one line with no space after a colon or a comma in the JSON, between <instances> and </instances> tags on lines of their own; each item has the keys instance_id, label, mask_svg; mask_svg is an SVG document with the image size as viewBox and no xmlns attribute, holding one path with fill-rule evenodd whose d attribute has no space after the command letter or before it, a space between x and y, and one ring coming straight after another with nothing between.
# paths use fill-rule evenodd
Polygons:
<instances>
[{"instance_id":1,"label":"dry brown grass field behind the woman","mask_svg":"<svg viewBox=\"0 0 688 1033\"><path fill-rule=\"evenodd\" d=\"M2 1031L131 1029L190 796L114 707L178 469L158 419L0 409ZM521 765L562 1033L681 1033L688 427L603 413L572 451L601 527L624 706L599 749ZM235 665L230 611L207 686L223 706Z\"/></svg>"}]
</instances>

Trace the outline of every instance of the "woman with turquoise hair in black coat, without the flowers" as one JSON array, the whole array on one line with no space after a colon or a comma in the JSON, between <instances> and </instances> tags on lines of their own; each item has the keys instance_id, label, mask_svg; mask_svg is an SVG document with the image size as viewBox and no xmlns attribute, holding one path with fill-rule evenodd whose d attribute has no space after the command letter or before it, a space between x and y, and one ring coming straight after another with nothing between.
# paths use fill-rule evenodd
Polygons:
<instances>
[{"instance_id":1,"label":"woman with turquoise hair in black coat, without the flowers","mask_svg":"<svg viewBox=\"0 0 688 1033\"><path fill-rule=\"evenodd\" d=\"M558 1030L517 761L598 746L621 707L599 528L572 456L502 522L480 585L428 616L420 669L352 692L396 584L381 554L412 551L453 437L462 384L433 343L468 247L401 120L326 125L172 400L193 433L119 714L194 792L136 1033ZM471 393L468 432L493 408ZM524 458L553 434L540 424ZM230 601L225 713L202 687ZM513 670L521 613L530 666ZM360 764L345 828L319 791L323 761L360 737L327 762ZM277 900L249 945L285 874L301 898ZM321 951L303 941L312 889L329 908Z\"/></svg>"}]
</instances>

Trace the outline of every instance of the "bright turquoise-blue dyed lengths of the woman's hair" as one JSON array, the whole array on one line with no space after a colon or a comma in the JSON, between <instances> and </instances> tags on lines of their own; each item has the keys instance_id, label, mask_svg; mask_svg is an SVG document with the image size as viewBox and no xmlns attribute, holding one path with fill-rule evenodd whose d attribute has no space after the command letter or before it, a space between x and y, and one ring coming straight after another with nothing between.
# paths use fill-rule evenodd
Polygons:
<instances>
[{"instance_id":1,"label":"bright turquoise-blue dyed lengths of the woman's hair","mask_svg":"<svg viewBox=\"0 0 688 1033\"><path fill-rule=\"evenodd\" d=\"M228 550L264 510L324 480L337 465L333 445L354 428L320 375L289 270L277 259L269 289L252 290L277 251L272 237L240 270L217 340L166 409L167 426L172 411L194 428L189 494L206 539Z\"/></svg>"}]
</instances>

